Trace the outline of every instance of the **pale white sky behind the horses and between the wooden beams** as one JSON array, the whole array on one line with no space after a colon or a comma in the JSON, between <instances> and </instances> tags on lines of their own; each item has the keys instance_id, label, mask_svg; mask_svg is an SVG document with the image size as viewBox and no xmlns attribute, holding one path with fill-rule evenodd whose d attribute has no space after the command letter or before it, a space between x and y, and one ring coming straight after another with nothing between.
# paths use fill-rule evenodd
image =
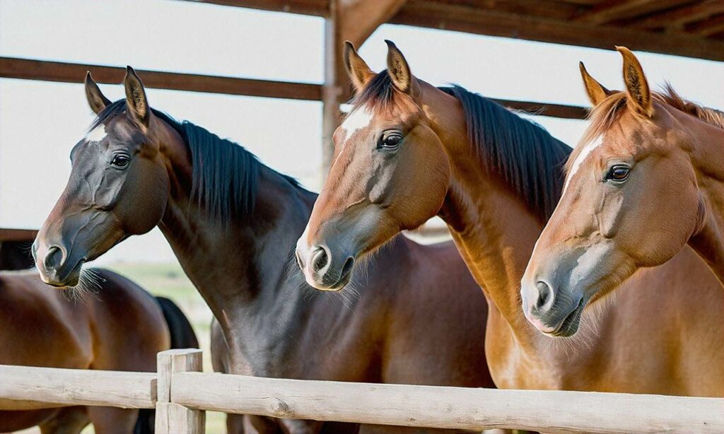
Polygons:
<instances>
[{"instance_id":1,"label":"pale white sky behind the horses and between the wooden beams","mask_svg":"<svg viewBox=\"0 0 724 434\"><path fill-rule=\"evenodd\" d=\"M324 20L169 0L0 1L0 55L136 69L321 83ZM360 48L372 69L395 41L413 75L492 98L587 106L578 61L607 88L622 86L618 52L382 25ZM341 48L340 48L341 49ZM653 88L724 109L724 63L636 53ZM79 77L79 80L82 77ZM143 75L141 76L143 80ZM101 85L111 100L121 85ZM147 89L151 106L239 142L318 191L321 103ZM529 116L575 145L584 121ZM37 229L70 174L70 149L93 119L83 85L0 79L0 226ZM174 260L157 229L98 260Z\"/></svg>"}]
</instances>

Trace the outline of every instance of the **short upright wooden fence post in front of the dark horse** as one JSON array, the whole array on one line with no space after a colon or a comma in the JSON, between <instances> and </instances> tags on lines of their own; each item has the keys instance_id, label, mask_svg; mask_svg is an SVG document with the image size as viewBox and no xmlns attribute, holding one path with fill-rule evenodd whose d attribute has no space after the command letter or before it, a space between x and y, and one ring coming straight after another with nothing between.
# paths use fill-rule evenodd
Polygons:
<instances>
[{"instance_id":1,"label":"short upright wooden fence post in front of the dark horse","mask_svg":"<svg viewBox=\"0 0 724 434\"><path fill-rule=\"evenodd\" d=\"M201 372L201 349L169 349L159 352L156 399L156 434L203 434L206 412L192 410L172 399L172 374Z\"/></svg>"}]
</instances>

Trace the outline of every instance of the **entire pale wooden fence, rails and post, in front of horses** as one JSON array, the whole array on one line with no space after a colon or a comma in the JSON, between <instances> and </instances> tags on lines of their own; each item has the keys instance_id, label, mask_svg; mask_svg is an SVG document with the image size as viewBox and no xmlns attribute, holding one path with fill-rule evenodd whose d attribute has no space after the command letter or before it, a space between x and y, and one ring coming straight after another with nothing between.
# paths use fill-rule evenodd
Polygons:
<instances>
[{"instance_id":1,"label":"entire pale wooden fence, rails and post, in front of horses","mask_svg":"<svg viewBox=\"0 0 724 434\"><path fill-rule=\"evenodd\" d=\"M0 409L155 408L156 433L203 433L206 410L312 420L545 433L724 433L724 399L287 380L201 373L201 350L157 373L0 365Z\"/></svg>"}]
</instances>

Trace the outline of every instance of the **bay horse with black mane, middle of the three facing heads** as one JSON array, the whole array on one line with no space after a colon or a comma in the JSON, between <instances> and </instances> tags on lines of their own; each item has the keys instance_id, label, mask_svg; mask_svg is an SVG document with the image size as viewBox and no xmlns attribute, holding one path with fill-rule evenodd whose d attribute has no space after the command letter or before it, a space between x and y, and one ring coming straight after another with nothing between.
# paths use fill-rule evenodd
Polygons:
<instances>
[{"instance_id":1,"label":"bay horse with black mane, middle of the three facing heads","mask_svg":"<svg viewBox=\"0 0 724 434\"><path fill-rule=\"evenodd\" d=\"M358 93L298 241L308 283L340 289L350 262L437 214L488 299L486 354L498 387L723 396L724 297L691 250L639 273L636 291L600 309L597 329L554 340L525 320L518 282L570 148L480 95L418 80L388 44L379 74L345 50ZM576 315L557 333L572 334Z\"/></svg>"}]
</instances>

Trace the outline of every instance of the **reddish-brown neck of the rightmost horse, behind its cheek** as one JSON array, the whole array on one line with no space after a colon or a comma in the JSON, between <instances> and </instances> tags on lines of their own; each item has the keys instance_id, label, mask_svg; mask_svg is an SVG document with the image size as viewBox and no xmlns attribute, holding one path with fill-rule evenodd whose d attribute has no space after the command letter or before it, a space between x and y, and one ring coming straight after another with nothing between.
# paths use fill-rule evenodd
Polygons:
<instances>
[{"instance_id":1,"label":"reddish-brown neck of the rightmost horse, behind its cheek","mask_svg":"<svg viewBox=\"0 0 724 434\"><path fill-rule=\"evenodd\" d=\"M702 225L689 244L724 283L724 129L673 108L670 113L691 137L687 152L704 202Z\"/></svg>"}]
</instances>

